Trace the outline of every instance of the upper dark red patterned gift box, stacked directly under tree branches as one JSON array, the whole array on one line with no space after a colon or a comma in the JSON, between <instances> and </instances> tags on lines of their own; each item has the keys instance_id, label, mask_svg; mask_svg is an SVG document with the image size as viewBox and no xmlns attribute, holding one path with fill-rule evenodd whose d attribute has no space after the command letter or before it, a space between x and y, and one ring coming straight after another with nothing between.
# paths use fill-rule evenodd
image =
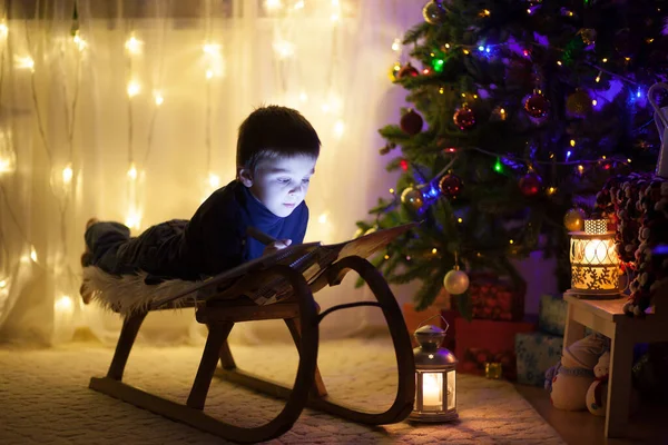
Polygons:
<instances>
[{"instance_id":1,"label":"upper dark red patterned gift box, stacked directly under tree branches","mask_svg":"<svg viewBox=\"0 0 668 445\"><path fill-rule=\"evenodd\" d=\"M469 295L473 318L521 320L524 317L527 286L493 274L471 274Z\"/></svg>"}]
</instances>

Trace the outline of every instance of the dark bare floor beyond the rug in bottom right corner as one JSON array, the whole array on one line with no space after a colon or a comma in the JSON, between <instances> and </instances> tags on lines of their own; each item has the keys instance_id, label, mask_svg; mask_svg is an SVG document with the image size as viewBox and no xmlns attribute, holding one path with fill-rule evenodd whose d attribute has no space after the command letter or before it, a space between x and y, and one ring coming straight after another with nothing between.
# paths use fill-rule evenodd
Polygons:
<instances>
[{"instance_id":1,"label":"dark bare floor beyond the rug in bottom right corner","mask_svg":"<svg viewBox=\"0 0 668 445\"><path fill-rule=\"evenodd\" d=\"M645 404L631 418L626 438L606 439L605 417L597 417L588 411L554 409L550 404L549 394L543 388L525 385L515 385L515 388L569 445L668 445L668 404Z\"/></svg>"}]
</instances>

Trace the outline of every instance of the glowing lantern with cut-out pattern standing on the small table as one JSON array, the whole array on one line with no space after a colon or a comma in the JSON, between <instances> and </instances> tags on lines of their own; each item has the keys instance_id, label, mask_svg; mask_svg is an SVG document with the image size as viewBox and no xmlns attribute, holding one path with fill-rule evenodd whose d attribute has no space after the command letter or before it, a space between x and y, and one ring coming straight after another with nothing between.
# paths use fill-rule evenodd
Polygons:
<instances>
[{"instance_id":1,"label":"glowing lantern with cut-out pattern standing on the small table","mask_svg":"<svg viewBox=\"0 0 668 445\"><path fill-rule=\"evenodd\" d=\"M584 231L571 231L569 294L586 298L619 297L619 257L606 219L586 219Z\"/></svg>"}]
</instances>

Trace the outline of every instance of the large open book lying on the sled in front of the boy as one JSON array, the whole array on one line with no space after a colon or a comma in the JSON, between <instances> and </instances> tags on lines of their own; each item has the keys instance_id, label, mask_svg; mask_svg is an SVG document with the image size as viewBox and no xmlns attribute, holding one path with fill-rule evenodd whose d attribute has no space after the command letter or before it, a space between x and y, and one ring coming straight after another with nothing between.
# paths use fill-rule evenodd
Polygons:
<instances>
[{"instance_id":1,"label":"large open book lying on the sled in front of the boy","mask_svg":"<svg viewBox=\"0 0 668 445\"><path fill-rule=\"evenodd\" d=\"M197 299L225 299L245 295L258 305L275 303L288 295L292 288L285 278L271 270L272 266L289 266L302 273L306 281L311 284L336 260L348 256L369 258L414 226L415 224L406 224L377 230L334 245L323 246L320 243L307 243L289 246L272 255L244 263L204 281L193 283L191 287L179 295L155 301L153 307L159 307L193 293L197 293Z\"/></svg>"}]
</instances>

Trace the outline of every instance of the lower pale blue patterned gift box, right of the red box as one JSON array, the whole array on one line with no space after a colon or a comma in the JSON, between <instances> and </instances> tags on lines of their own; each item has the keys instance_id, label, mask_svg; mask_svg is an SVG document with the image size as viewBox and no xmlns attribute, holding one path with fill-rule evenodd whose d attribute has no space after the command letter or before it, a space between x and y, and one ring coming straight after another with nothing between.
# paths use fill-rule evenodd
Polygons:
<instances>
[{"instance_id":1,"label":"lower pale blue patterned gift box, right of the red box","mask_svg":"<svg viewBox=\"0 0 668 445\"><path fill-rule=\"evenodd\" d=\"M561 358L563 338L544 333L515 335L518 383L543 386L546 370Z\"/></svg>"}]
</instances>

